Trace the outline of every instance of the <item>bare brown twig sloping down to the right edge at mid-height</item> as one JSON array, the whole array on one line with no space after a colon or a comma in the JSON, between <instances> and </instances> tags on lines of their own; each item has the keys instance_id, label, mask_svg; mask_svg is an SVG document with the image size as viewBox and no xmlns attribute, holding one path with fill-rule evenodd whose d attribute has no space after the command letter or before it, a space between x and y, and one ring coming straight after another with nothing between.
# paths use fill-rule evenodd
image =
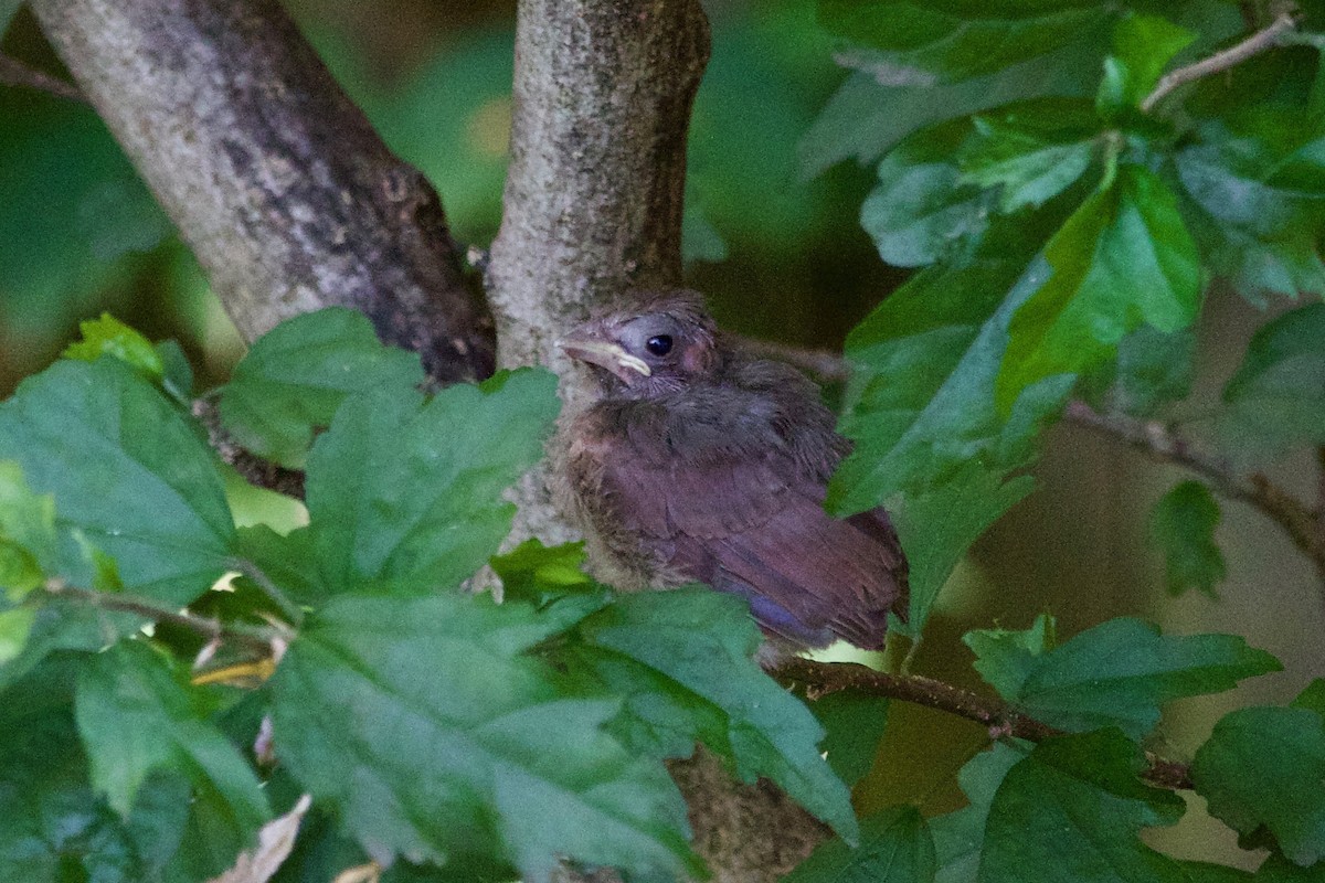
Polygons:
<instances>
[{"instance_id":1,"label":"bare brown twig sloping down to the right edge at mid-height","mask_svg":"<svg viewBox=\"0 0 1325 883\"><path fill-rule=\"evenodd\" d=\"M1196 450L1187 440L1173 434L1157 421L1142 421L1118 413L1101 414L1084 401L1069 402L1064 417L1079 426L1113 436L1155 459L1185 466L1204 478L1222 496L1259 508L1283 528L1293 545L1325 577L1325 532L1321 531L1317 515L1261 473L1240 475L1226 461Z\"/></svg>"}]
</instances>

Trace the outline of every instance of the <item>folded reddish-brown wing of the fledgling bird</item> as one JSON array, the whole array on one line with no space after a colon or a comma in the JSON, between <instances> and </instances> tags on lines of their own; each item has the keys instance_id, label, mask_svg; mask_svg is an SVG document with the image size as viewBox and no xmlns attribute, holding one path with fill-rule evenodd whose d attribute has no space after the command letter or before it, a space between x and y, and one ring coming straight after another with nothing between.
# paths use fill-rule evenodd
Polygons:
<instances>
[{"instance_id":1,"label":"folded reddish-brown wing of the fledgling bird","mask_svg":"<svg viewBox=\"0 0 1325 883\"><path fill-rule=\"evenodd\" d=\"M710 443L690 432L669 445L665 428L633 421L624 449L603 461L603 502L688 579L747 597L768 631L880 646L889 609L906 598L906 561L886 514L829 516L827 470L742 429L706 433Z\"/></svg>"}]
</instances>

